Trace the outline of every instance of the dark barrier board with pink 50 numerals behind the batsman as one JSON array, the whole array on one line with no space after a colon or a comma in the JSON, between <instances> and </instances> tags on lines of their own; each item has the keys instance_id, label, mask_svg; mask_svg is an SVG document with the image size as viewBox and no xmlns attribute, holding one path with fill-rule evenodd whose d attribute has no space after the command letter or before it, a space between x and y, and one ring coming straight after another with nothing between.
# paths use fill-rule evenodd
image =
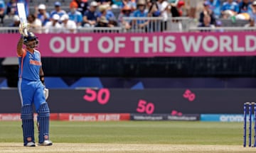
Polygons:
<instances>
[{"instance_id":1,"label":"dark barrier board with pink 50 numerals behind the batsman","mask_svg":"<svg viewBox=\"0 0 256 153\"><path fill-rule=\"evenodd\" d=\"M255 93L256 89L50 89L48 104L52 113L242 113L242 104L255 101ZM0 97L0 113L19 113L16 89L2 89Z\"/></svg>"}]
</instances>

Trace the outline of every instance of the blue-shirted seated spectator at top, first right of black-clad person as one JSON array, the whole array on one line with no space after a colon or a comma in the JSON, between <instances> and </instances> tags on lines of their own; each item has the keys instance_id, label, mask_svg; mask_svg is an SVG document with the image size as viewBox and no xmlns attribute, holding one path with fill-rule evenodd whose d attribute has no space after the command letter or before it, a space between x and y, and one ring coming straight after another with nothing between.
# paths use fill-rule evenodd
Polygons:
<instances>
[{"instance_id":1,"label":"blue-shirted seated spectator at top, first right of black-clad person","mask_svg":"<svg viewBox=\"0 0 256 153\"><path fill-rule=\"evenodd\" d=\"M221 8L221 14L222 16L226 13L229 13L230 16L235 16L239 12L239 6L238 3L234 0L227 0L223 3L223 6Z\"/></svg>"}]
</instances>

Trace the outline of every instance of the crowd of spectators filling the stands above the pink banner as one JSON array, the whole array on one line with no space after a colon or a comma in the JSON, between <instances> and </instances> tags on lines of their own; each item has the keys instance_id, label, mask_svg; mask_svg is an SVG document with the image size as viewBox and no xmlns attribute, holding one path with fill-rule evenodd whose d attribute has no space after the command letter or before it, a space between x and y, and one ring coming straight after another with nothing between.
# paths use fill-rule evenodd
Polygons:
<instances>
[{"instance_id":1,"label":"crowd of spectators filling the stands above the pink banner","mask_svg":"<svg viewBox=\"0 0 256 153\"><path fill-rule=\"evenodd\" d=\"M202 10L196 16L200 0L70 0L68 10L62 7L63 1L53 1L53 9L48 11L46 4L30 5L31 0L0 0L0 20L12 18L13 23L8 26L17 27L17 2L26 6L30 30L34 33L76 33L79 28L93 27L123 27L130 30L136 28L144 30L167 30L169 17L188 16L198 20L198 27L221 26L220 18L227 18L233 22L247 20L246 27L255 26L256 0L203 0ZM200 3L199 3L200 4ZM29 7L34 11L30 12ZM189 7L183 12L184 7ZM196 10L195 10L196 8ZM116 16L114 10L118 9ZM186 10L186 9L185 9ZM124 17L162 17L160 22L154 20L124 20ZM172 19L172 26L179 23ZM2 24L4 25L4 24ZM177 30L181 25L177 24Z\"/></svg>"}]
</instances>

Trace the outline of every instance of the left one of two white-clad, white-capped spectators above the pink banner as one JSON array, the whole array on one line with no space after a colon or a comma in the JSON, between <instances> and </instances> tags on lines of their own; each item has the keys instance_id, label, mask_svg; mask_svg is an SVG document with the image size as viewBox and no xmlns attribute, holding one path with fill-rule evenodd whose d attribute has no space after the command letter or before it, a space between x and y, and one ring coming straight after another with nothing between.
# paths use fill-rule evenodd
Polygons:
<instances>
[{"instance_id":1,"label":"left one of two white-clad, white-capped spectators above the pink banner","mask_svg":"<svg viewBox=\"0 0 256 153\"><path fill-rule=\"evenodd\" d=\"M53 15L52 20L48 21L46 25L43 27L44 33L60 33L61 32L61 26L58 21L60 20L60 16L55 13Z\"/></svg>"}]
</instances>

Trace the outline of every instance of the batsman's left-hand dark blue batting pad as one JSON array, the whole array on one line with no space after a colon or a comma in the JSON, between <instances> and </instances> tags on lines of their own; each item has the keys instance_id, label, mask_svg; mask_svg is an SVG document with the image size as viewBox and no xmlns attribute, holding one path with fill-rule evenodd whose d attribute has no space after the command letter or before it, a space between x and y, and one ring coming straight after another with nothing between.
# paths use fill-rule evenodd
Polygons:
<instances>
[{"instance_id":1,"label":"batsman's left-hand dark blue batting pad","mask_svg":"<svg viewBox=\"0 0 256 153\"><path fill-rule=\"evenodd\" d=\"M21 108L21 120L22 120L24 145L26 145L28 142L35 142L34 122L33 122L33 108L32 108L31 105L22 106L22 108Z\"/></svg>"}]
</instances>

